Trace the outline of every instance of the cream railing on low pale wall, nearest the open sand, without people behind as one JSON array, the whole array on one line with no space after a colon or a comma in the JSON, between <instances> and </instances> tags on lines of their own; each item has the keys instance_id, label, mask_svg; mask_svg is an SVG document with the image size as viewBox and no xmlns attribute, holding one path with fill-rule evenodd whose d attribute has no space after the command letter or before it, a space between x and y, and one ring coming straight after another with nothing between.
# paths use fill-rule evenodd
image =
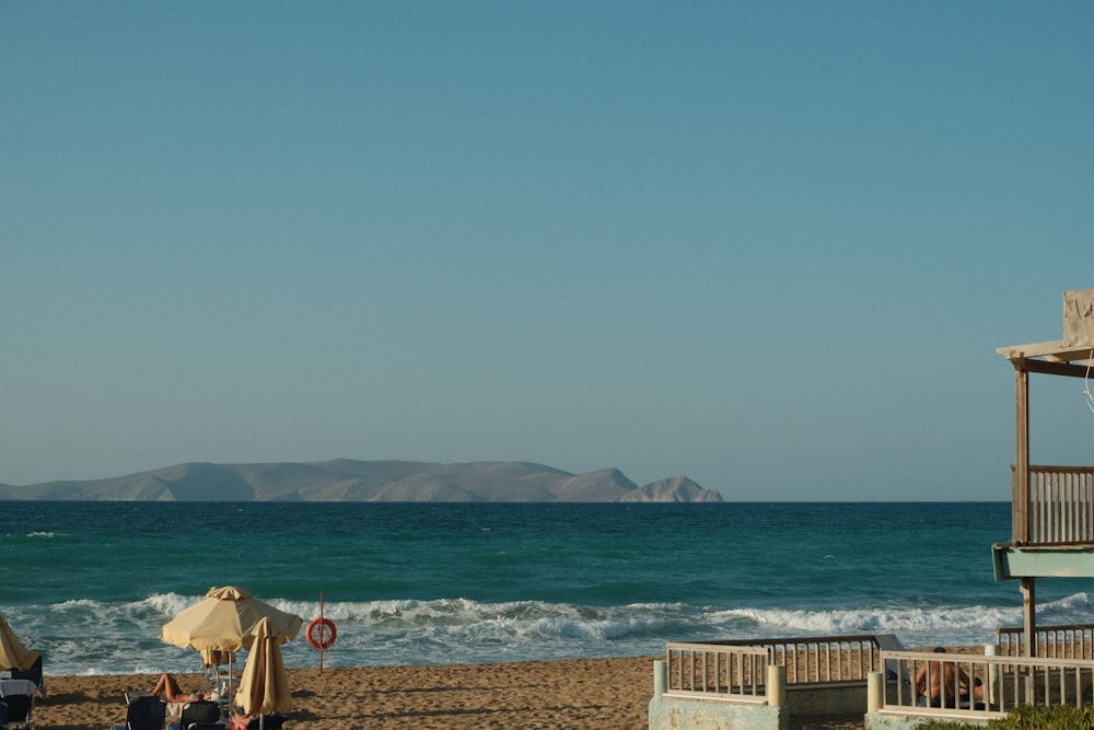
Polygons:
<instances>
[{"instance_id":1,"label":"cream railing on low pale wall, nearest the open sand, without people behind","mask_svg":"<svg viewBox=\"0 0 1094 730\"><path fill-rule=\"evenodd\" d=\"M865 682L880 671L889 636L828 636L666 645L667 694L761 702L768 665L787 668L787 686ZM892 645L889 645L892 646Z\"/></svg>"}]
</instances>

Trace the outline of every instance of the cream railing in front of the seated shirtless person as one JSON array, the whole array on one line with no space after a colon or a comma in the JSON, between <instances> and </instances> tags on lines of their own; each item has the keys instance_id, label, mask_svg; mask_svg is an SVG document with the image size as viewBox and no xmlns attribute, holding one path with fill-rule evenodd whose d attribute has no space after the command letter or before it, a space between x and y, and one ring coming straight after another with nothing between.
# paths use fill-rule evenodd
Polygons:
<instances>
[{"instance_id":1,"label":"cream railing in front of the seated shirtless person","mask_svg":"<svg viewBox=\"0 0 1094 730\"><path fill-rule=\"evenodd\" d=\"M924 651L883 651L882 658L896 664L899 677L884 692L883 712L985 720L1004 717L1016 705L1092 704L1094 661L1090 659ZM916 686L917 676L928 673L945 677L945 690L933 703L920 697Z\"/></svg>"}]
</instances>

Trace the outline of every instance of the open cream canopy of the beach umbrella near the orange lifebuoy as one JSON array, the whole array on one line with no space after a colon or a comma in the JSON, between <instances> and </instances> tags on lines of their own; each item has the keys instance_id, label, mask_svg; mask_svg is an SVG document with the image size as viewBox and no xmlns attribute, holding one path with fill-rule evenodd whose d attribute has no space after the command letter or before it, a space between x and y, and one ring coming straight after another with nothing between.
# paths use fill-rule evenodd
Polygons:
<instances>
[{"instance_id":1,"label":"open cream canopy of the beach umbrella near the orange lifebuoy","mask_svg":"<svg viewBox=\"0 0 1094 730\"><path fill-rule=\"evenodd\" d=\"M184 649L238 651L251 646L255 627L269 619L280 644L296 638L304 619L252 598L242 588L210 588L198 603L164 624L160 638Z\"/></svg>"}]
</instances>

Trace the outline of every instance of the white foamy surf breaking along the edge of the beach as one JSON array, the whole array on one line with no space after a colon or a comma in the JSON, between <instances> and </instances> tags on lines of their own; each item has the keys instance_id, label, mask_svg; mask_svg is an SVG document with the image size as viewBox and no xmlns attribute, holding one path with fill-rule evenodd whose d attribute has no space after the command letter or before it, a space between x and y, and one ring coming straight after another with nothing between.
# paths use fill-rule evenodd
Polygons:
<instances>
[{"instance_id":1,"label":"white foamy surf breaking along the edge of the beach","mask_svg":"<svg viewBox=\"0 0 1094 730\"><path fill-rule=\"evenodd\" d=\"M0 613L37 637L35 646L45 651L54 673L196 671L196 652L167 645L159 635L164 623L200 598L163 593L125 603L82 599L0 606ZM318 616L318 601L264 600L305 622ZM338 626L338 639L324 660L331 667L659 654L665 641L729 637L892 633L908 646L978 645L992 642L997 627L1022 621L1017 605L725 610L682 603L587 606L452 598L327 602L323 611ZM1043 621L1087 623L1091 596L1071 594L1047 602L1041 611ZM283 652L290 667L317 661L302 636Z\"/></svg>"}]
</instances>

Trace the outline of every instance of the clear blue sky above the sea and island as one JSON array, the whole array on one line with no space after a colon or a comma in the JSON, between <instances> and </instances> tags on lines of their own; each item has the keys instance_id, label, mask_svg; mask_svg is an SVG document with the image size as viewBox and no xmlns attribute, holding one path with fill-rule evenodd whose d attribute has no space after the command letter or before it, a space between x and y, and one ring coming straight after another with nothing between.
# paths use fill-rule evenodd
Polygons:
<instances>
[{"instance_id":1,"label":"clear blue sky above the sea and island","mask_svg":"<svg viewBox=\"0 0 1094 730\"><path fill-rule=\"evenodd\" d=\"M521 460L1010 499L1090 2L4 2L0 483ZM1062 381L1062 382L1052 382ZM1090 464L1034 379L1035 463Z\"/></svg>"}]
</instances>

